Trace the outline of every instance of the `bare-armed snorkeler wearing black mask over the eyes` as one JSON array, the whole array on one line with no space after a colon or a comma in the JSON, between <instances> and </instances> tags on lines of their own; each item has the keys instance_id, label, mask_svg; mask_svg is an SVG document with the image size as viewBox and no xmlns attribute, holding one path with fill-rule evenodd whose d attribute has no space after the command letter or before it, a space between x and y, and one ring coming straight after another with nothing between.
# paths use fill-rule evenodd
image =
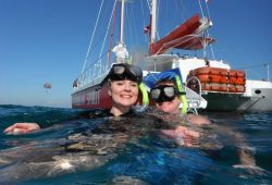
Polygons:
<instances>
[{"instance_id":1,"label":"bare-armed snorkeler wearing black mask over the eyes","mask_svg":"<svg viewBox=\"0 0 272 185\"><path fill-rule=\"evenodd\" d=\"M158 81L156 86L150 90L150 96L156 102L156 107L159 110L166 113L181 114L180 104L182 103L182 99L175 78L162 78ZM211 126L215 128L214 130L215 134L228 135L231 138L234 138L236 140L236 143L234 144L238 146L238 158L240 161L240 164L234 166L244 168L251 172L256 171L256 173L261 172L261 169L256 165L256 161L252 152L250 151L250 147L248 147L244 137L239 133L234 132L230 127L225 127L223 125L219 126L211 124L211 122L207 118L201 115L187 114L183 116L186 118L185 121L189 124L193 125L195 124L198 126L208 126L208 127ZM199 140L201 143L201 140L206 139L203 138L205 136L200 138L201 135L200 132L193 131L187 126L177 126L177 128L174 132L171 130L165 130L163 132L165 135L175 138L177 143L180 138L178 136L181 135L182 136L181 145L185 145L187 147L195 146L194 140ZM206 135L206 137L208 136ZM199 143L196 141L196 144L198 145ZM210 147L212 146L215 147L214 144L211 145ZM210 149L217 149L217 147Z\"/></svg>"}]
</instances>

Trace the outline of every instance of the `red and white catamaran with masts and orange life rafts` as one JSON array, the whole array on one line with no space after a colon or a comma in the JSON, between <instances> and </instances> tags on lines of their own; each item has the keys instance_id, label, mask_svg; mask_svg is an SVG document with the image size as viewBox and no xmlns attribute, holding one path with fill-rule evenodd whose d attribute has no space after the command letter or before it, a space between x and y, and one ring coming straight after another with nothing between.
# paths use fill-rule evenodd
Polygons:
<instances>
[{"instance_id":1,"label":"red and white catamaran with masts and orange life rafts","mask_svg":"<svg viewBox=\"0 0 272 185\"><path fill-rule=\"evenodd\" d=\"M84 69L73 84L73 108L110 108L111 99L108 96L108 87L104 86L100 90L97 90L97 87L108 74L112 63L132 61L132 57L128 54L124 42L124 13L126 0L114 1L111 16L108 21L109 24L106 29L106 35L110 35L108 39L112 40L112 27L114 25L119 2L121 2L119 42L113 49L110 47L107 54L102 54L101 52L97 62L92 63L89 67L86 67L86 61L89 54L88 50ZM157 39L159 35L159 27L157 24L160 22L158 18L158 12L166 13L160 11L159 7L161 2L171 3L171 0L146 0L146 2L150 10L150 25L146 27L146 30L149 32L150 36L149 51L148 54L141 59L141 62L137 61L137 64L146 71L144 74L148 74L150 71L161 72L180 67L183 83L189 87L187 88L187 98L189 102L197 102L194 106L195 108L205 109L208 101L207 110L212 111L272 111L271 82L247 79L245 71L232 70L231 65L226 62L208 58L208 46L214 42L215 39L209 37L208 30L212 26L212 22L209 16L206 17L203 15L202 11L203 3L206 3L206 8L208 9L207 1L196 0L201 10L201 16L199 14L193 15L174 30L170 32L165 37L160 39ZM96 23L99 22L103 3L104 1L101 0ZM209 10L207 12L209 12ZM182 10L180 10L178 13L182 14ZM94 28L91 41L95 33L96 26ZM102 47L104 47L104 42L106 38ZM109 44L111 46L112 41ZM200 50L203 51L203 55L199 58L190 57L188 54L181 55L172 53L177 50ZM112 52L115 53L113 62L111 61ZM104 62L102 62L103 55L107 55ZM194 89L199 96L196 96L190 89ZM201 96L207 101L202 99Z\"/></svg>"}]
</instances>

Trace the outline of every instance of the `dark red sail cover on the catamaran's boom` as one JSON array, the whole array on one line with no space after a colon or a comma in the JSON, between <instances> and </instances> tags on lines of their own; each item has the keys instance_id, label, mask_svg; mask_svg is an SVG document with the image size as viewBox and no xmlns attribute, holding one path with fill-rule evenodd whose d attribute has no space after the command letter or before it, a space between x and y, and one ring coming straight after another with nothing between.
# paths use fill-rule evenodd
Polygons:
<instances>
[{"instance_id":1,"label":"dark red sail cover on the catamaran's boom","mask_svg":"<svg viewBox=\"0 0 272 185\"><path fill-rule=\"evenodd\" d=\"M149 46L149 54L161 54L170 48L197 50L214 41L213 38L201 37L196 34L201 26L199 14L180 25L169 35Z\"/></svg>"}]
</instances>

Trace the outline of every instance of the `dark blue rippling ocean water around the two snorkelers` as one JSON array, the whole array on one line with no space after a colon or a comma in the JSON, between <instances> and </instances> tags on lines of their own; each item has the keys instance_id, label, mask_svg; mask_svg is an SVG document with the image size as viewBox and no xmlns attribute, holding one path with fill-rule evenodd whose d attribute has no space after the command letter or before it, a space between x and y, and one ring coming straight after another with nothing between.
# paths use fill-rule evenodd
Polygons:
<instances>
[{"instance_id":1,"label":"dark blue rippling ocean water around the two snorkelers","mask_svg":"<svg viewBox=\"0 0 272 185\"><path fill-rule=\"evenodd\" d=\"M149 126L153 116L74 119L81 113L0 106L0 184L272 184L272 113L205 113L213 123L191 127L201 133L194 147ZM15 122L46 126L2 133ZM242 165L240 153L256 165Z\"/></svg>"}]
</instances>

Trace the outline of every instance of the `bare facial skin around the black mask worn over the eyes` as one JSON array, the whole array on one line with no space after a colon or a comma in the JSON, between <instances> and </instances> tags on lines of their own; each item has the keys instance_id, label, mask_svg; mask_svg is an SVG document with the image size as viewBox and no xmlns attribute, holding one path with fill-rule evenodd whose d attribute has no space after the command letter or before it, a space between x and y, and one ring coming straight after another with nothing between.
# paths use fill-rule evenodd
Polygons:
<instances>
[{"instance_id":1,"label":"bare facial skin around the black mask worn over the eyes","mask_svg":"<svg viewBox=\"0 0 272 185\"><path fill-rule=\"evenodd\" d=\"M159 85L169 85L169 86L175 86L173 83L160 83ZM163 112L168 113L178 113L180 112L180 104L181 104L181 99L175 96L175 98L172 101L164 101L164 102L157 102L156 107Z\"/></svg>"}]
</instances>

